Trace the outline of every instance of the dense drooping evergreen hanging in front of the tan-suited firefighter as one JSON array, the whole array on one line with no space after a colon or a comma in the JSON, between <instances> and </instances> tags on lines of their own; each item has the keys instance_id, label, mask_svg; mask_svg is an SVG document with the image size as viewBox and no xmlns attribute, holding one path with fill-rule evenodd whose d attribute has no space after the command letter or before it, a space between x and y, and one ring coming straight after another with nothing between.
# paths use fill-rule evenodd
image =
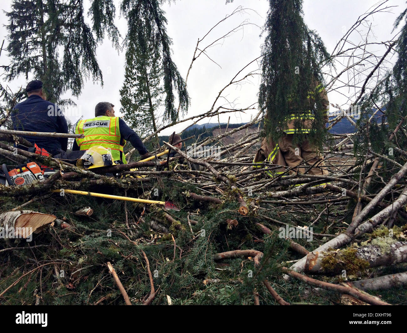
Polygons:
<instances>
[{"instance_id":1,"label":"dense drooping evergreen hanging in front of the tan-suited firefighter","mask_svg":"<svg viewBox=\"0 0 407 333\"><path fill-rule=\"evenodd\" d=\"M286 118L292 113L311 110L315 121L309 140L322 145L325 138L323 113L315 83L324 83L320 66L328 58L326 48L315 31L303 19L302 0L269 0L264 26L267 32L262 46L262 81L259 105L266 114L265 134L278 140L287 129ZM308 98L314 92L315 98ZM296 120L301 128L303 121ZM301 142L304 134L294 134Z\"/></svg>"}]
</instances>

